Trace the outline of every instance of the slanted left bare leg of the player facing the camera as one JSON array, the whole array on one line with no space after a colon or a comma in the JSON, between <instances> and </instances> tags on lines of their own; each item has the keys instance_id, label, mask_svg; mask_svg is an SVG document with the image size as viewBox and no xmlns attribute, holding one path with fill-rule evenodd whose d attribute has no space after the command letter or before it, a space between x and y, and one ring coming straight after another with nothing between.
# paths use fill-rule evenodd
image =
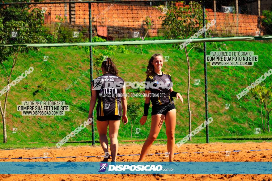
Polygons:
<instances>
[{"instance_id":1,"label":"slanted left bare leg of the player facing the camera","mask_svg":"<svg viewBox=\"0 0 272 181\"><path fill-rule=\"evenodd\" d=\"M159 131L163 125L164 122L164 115L163 114L155 114L151 117L151 128L150 128L150 133L148 135L148 138L146 142L142 146L142 151L140 158L138 162L142 162L147 153L149 152L152 143L156 140L158 137Z\"/></svg>"}]
</instances>

